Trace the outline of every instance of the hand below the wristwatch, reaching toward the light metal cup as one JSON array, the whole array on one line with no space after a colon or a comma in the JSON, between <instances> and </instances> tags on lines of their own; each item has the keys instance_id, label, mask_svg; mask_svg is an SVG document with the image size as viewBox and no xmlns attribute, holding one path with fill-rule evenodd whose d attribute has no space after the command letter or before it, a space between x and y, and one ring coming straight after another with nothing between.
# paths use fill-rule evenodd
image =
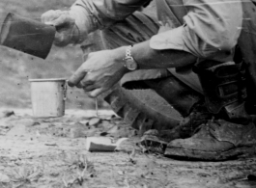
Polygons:
<instances>
[{"instance_id":1,"label":"hand below the wristwatch, reaching toward the light metal cup","mask_svg":"<svg viewBox=\"0 0 256 188\"><path fill-rule=\"evenodd\" d=\"M71 76L69 86L83 88L90 97L97 97L114 86L128 71L122 63L124 54L124 47L90 53L87 61Z\"/></svg>"}]
</instances>

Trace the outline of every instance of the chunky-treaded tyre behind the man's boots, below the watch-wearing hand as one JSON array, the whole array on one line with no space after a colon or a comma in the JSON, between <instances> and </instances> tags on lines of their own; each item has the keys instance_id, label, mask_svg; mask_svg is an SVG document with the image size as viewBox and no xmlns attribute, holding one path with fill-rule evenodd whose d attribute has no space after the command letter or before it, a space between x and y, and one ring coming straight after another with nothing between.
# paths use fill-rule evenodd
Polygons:
<instances>
[{"instance_id":1,"label":"chunky-treaded tyre behind the man's boots, below the watch-wearing hand","mask_svg":"<svg viewBox=\"0 0 256 188\"><path fill-rule=\"evenodd\" d=\"M166 116L163 110L158 110L161 108L159 105L151 104L143 95L136 96L119 85L105 92L101 97L110 104L117 115L124 118L131 127L139 130L140 135L149 129L172 129L181 121L180 117L175 116L174 110L173 114ZM151 95L151 97L155 96ZM154 105L156 109L153 108Z\"/></svg>"}]
</instances>

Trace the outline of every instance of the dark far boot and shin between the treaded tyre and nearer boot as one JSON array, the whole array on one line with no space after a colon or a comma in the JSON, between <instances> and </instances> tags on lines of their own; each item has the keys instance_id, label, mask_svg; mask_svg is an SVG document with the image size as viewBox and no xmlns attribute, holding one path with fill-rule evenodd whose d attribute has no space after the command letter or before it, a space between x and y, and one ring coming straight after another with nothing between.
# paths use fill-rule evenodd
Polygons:
<instances>
[{"instance_id":1,"label":"dark far boot and shin between the treaded tyre and nearer boot","mask_svg":"<svg viewBox=\"0 0 256 188\"><path fill-rule=\"evenodd\" d=\"M188 138L193 135L194 130L202 123L210 120L209 111L204 103L204 96L170 74L167 78L148 80L145 83L163 97L184 117L175 128L161 130L157 136L165 142L178 138Z\"/></svg>"}]
</instances>

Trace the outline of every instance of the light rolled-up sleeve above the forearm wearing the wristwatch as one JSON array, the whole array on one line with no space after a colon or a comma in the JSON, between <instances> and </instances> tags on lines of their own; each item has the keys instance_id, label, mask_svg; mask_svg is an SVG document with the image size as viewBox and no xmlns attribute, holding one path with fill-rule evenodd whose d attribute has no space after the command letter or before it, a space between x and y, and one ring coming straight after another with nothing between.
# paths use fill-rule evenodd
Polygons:
<instances>
[{"instance_id":1,"label":"light rolled-up sleeve above the forearm wearing the wristwatch","mask_svg":"<svg viewBox=\"0 0 256 188\"><path fill-rule=\"evenodd\" d=\"M209 58L237 44L242 29L240 0L184 0L184 6L184 25L154 36L152 48L184 50Z\"/></svg>"}]
</instances>

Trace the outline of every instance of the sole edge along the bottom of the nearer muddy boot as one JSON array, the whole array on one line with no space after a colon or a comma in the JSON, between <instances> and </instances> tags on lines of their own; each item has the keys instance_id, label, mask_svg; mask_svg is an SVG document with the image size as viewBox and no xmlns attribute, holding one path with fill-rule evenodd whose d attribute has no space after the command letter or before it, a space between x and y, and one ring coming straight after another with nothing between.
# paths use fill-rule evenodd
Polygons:
<instances>
[{"instance_id":1,"label":"sole edge along the bottom of the nearer muddy boot","mask_svg":"<svg viewBox=\"0 0 256 188\"><path fill-rule=\"evenodd\" d=\"M224 161L237 159L242 155L249 156L256 153L254 147L234 148L222 152L202 151L185 148L166 148L164 155L166 157L183 160L204 160L204 161Z\"/></svg>"}]
</instances>

